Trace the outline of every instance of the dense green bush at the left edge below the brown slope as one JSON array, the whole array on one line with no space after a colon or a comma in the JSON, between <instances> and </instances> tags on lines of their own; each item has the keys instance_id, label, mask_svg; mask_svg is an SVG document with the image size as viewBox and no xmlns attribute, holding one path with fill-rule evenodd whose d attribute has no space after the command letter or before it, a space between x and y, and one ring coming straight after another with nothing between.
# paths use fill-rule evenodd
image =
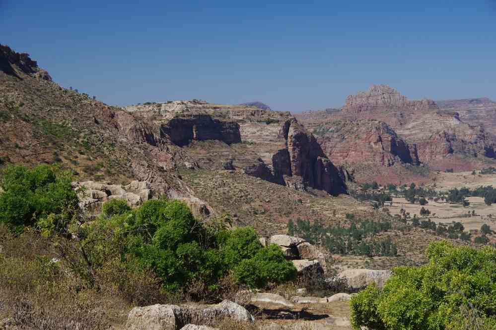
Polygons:
<instances>
[{"instance_id":1,"label":"dense green bush at the left edge below the brown slope","mask_svg":"<svg viewBox=\"0 0 496 330\"><path fill-rule=\"evenodd\" d=\"M55 166L9 166L0 184L0 223L19 230L36 222L46 233L64 230L78 209L71 174Z\"/></svg>"}]
</instances>

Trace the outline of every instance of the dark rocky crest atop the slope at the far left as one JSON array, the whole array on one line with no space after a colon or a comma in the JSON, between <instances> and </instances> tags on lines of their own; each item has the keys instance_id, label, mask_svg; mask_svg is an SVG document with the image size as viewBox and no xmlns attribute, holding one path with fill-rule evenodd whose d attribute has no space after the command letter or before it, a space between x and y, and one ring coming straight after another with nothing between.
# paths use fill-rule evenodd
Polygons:
<instances>
[{"instance_id":1,"label":"dark rocky crest atop the slope at the far left","mask_svg":"<svg viewBox=\"0 0 496 330\"><path fill-rule=\"evenodd\" d=\"M48 72L38 67L38 63L32 60L29 54L17 53L6 45L0 45L0 71L11 76L19 77L16 70L42 80L52 81L52 77L50 77Z\"/></svg>"}]
</instances>

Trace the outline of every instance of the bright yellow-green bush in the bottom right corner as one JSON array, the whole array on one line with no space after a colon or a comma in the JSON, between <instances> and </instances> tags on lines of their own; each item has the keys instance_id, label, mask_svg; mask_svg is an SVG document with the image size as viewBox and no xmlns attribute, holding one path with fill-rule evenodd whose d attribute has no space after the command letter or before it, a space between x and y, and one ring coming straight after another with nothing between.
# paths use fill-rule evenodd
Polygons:
<instances>
[{"instance_id":1,"label":"bright yellow-green bush in the bottom right corner","mask_svg":"<svg viewBox=\"0 0 496 330\"><path fill-rule=\"evenodd\" d=\"M382 290L369 286L352 297L354 329L465 329L469 306L496 327L496 250L431 243L422 267L398 267ZM461 322L461 323L460 323Z\"/></svg>"}]
</instances>

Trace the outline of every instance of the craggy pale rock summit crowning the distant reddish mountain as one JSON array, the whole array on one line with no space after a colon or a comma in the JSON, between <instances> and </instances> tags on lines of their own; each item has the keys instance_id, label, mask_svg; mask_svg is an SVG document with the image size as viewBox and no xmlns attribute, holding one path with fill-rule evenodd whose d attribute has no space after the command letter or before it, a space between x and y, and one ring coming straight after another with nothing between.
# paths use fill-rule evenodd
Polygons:
<instances>
[{"instance_id":1,"label":"craggy pale rock summit crowning the distant reddish mountain","mask_svg":"<svg viewBox=\"0 0 496 330\"><path fill-rule=\"evenodd\" d=\"M406 96L388 85L371 85L368 91L346 98L343 111L409 108L414 110L438 109L432 100L409 101Z\"/></svg>"}]
</instances>

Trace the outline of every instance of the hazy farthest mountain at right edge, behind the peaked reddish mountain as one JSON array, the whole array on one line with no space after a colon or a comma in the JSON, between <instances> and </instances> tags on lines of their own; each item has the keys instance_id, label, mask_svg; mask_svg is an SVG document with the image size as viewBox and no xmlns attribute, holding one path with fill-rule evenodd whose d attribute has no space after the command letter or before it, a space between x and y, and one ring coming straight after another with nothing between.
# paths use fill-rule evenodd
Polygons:
<instances>
[{"instance_id":1,"label":"hazy farthest mountain at right edge, behind the peaked reddish mountain","mask_svg":"<svg viewBox=\"0 0 496 330\"><path fill-rule=\"evenodd\" d=\"M488 98L436 101L439 109L458 112L464 122L484 127L487 132L496 134L496 102Z\"/></svg>"}]
</instances>

